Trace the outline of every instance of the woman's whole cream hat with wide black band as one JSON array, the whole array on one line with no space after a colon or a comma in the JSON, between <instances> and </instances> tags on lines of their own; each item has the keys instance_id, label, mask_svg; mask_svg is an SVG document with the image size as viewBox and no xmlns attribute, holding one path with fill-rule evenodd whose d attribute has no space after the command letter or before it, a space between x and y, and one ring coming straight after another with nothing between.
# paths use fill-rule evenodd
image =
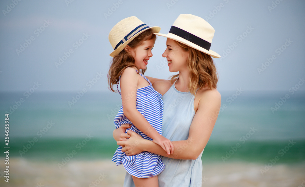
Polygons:
<instances>
[{"instance_id":1,"label":"woman's whole cream hat with wide black band","mask_svg":"<svg viewBox=\"0 0 305 187\"><path fill-rule=\"evenodd\" d=\"M210 50L214 32L214 28L201 17L180 14L168 34L154 34L173 39L214 58L219 58L220 55Z\"/></svg>"}]
</instances>

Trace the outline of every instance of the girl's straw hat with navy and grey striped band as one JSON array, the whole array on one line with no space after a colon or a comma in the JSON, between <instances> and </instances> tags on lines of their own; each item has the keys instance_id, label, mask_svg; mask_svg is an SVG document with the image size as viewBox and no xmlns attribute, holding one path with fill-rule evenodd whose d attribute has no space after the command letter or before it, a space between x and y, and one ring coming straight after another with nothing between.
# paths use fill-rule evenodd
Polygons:
<instances>
[{"instance_id":1,"label":"girl's straw hat with navy and grey striped band","mask_svg":"<svg viewBox=\"0 0 305 187\"><path fill-rule=\"evenodd\" d=\"M152 29L154 33L160 31L160 27L149 27L135 16L121 20L110 30L108 36L109 42L114 50L110 53L110 56L114 57L118 55L129 42L148 29Z\"/></svg>"}]
</instances>

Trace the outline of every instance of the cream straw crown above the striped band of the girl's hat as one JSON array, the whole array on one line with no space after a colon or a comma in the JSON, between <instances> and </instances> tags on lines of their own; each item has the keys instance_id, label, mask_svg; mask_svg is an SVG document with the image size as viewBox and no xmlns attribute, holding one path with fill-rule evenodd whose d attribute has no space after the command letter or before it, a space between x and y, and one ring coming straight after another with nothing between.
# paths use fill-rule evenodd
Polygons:
<instances>
[{"instance_id":1,"label":"cream straw crown above the striped band of the girl's hat","mask_svg":"<svg viewBox=\"0 0 305 187\"><path fill-rule=\"evenodd\" d=\"M117 23L110 30L108 39L109 42L114 49L116 45L132 30L134 30L139 25L144 24L140 19L136 16L131 16L125 19L122 19L119 23Z\"/></svg>"}]
</instances>

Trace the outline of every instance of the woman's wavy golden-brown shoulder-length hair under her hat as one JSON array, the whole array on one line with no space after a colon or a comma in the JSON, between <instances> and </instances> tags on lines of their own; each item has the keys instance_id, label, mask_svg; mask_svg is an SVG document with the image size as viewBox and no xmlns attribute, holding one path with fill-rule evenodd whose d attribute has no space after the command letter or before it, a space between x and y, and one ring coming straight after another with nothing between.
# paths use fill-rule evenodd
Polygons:
<instances>
[{"instance_id":1,"label":"woman's wavy golden-brown shoulder-length hair under her hat","mask_svg":"<svg viewBox=\"0 0 305 187\"><path fill-rule=\"evenodd\" d=\"M188 89L195 95L197 89L208 86L210 89L217 87L218 73L214 65L213 59L201 51L198 51L188 45L175 41L184 51L188 52L186 60L189 74ZM179 74L171 77L171 82L179 77Z\"/></svg>"}]
</instances>

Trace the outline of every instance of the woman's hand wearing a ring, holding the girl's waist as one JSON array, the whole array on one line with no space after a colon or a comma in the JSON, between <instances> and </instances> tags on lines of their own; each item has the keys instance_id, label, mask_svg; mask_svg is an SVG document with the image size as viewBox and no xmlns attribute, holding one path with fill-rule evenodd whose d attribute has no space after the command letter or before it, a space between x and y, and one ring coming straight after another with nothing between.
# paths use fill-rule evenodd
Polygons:
<instances>
[{"instance_id":1,"label":"woman's hand wearing a ring, holding the girl's waist","mask_svg":"<svg viewBox=\"0 0 305 187\"><path fill-rule=\"evenodd\" d=\"M119 146L123 146L122 151L125 152L128 156L139 154L143 152L141 143L145 141L142 136L138 135L132 130L127 131L127 135L130 136L126 141L118 141ZM149 140L148 140L149 141Z\"/></svg>"}]
</instances>

